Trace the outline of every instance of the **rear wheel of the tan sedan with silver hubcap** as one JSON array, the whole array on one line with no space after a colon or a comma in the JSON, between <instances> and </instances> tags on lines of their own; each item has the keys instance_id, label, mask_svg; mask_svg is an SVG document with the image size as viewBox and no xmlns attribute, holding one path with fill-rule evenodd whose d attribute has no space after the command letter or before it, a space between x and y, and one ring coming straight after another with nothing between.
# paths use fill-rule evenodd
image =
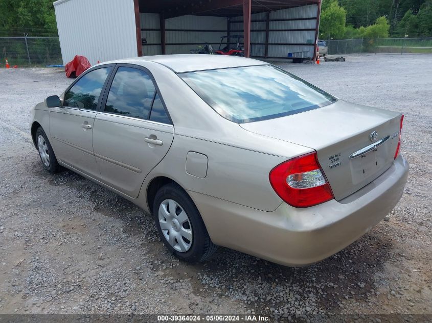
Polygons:
<instances>
[{"instance_id":1,"label":"rear wheel of the tan sedan with silver hubcap","mask_svg":"<svg viewBox=\"0 0 432 323\"><path fill-rule=\"evenodd\" d=\"M157 191L153 219L165 246L180 260L199 263L216 251L198 209L178 184L166 184Z\"/></svg>"}]
</instances>

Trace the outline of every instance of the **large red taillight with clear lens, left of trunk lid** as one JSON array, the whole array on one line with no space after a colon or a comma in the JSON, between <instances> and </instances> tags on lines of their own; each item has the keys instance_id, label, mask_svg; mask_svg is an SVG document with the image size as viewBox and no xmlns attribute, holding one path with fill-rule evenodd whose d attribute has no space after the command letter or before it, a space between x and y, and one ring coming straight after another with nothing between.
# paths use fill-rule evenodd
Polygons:
<instances>
[{"instance_id":1,"label":"large red taillight with clear lens, left of trunk lid","mask_svg":"<svg viewBox=\"0 0 432 323\"><path fill-rule=\"evenodd\" d=\"M270 184L289 205L307 208L334 198L316 152L279 164L270 171Z\"/></svg>"}]
</instances>

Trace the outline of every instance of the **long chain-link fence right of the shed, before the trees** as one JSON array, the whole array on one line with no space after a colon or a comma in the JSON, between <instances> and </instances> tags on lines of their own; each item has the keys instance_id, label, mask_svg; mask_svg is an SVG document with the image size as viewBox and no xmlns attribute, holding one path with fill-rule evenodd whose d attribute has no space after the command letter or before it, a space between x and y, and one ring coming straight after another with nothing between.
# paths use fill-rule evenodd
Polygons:
<instances>
[{"instance_id":1,"label":"long chain-link fence right of the shed, before the trees","mask_svg":"<svg viewBox=\"0 0 432 323\"><path fill-rule=\"evenodd\" d=\"M432 54L432 37L327 40L329 55L359 53Z\"/></svg>"}]
</instances>

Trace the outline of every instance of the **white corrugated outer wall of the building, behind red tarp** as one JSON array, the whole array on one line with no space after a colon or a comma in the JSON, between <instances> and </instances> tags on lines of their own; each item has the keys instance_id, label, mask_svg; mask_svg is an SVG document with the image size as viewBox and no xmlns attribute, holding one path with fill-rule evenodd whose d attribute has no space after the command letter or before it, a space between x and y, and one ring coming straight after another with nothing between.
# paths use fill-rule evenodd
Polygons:
<instances>
[{"instance_id":1,"label":"white corrugated outer wall of the building, behind red tarp","mask_svg":"<svg viewBox=\"0 0 432 323\"><path fill-rule=\"evenodd\" d=\"M59 0L54 9L63 64L75 55L91 64L138 55L133 0Z\"/></svg>"}]
</instances>

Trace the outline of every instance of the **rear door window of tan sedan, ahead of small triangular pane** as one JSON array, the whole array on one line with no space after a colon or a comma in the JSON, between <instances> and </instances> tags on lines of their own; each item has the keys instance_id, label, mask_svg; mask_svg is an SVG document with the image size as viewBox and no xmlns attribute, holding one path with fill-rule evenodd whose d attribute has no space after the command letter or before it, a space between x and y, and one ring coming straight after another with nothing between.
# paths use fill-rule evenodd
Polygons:
<instances>
[{"instance_id":1,"label":"rear door window of tan sedan, ahead of small triangular pane","mask_svg":"<svg viewBox=\"0 0 432 323\"><path fill-rule=\"evenodd\" d=\"M119 67L106 100L105 112L147 119L155 87L143 70Z\"/></svg>"}]
</instances>

